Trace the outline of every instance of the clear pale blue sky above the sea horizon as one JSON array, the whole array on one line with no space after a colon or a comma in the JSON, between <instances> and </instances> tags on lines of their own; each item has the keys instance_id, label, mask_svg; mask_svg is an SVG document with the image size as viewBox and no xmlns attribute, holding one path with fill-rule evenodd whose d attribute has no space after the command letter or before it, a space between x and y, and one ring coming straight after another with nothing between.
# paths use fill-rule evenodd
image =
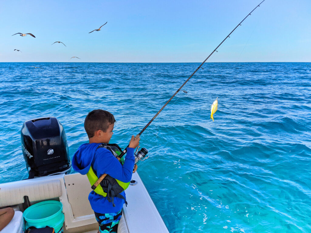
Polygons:
<instances>
[{"instance_id":1,"label":"clear pale blue sky above the sea horizon","mask_svg":"<svg viewBox=\"0 0 311 233\"><path fill-rule=\"evenodd\" d=\"M0 62L203 62L260 2L1 0ZM265 0L207 62L311 62L311 0Z\"/></svg>"}]
</instances>

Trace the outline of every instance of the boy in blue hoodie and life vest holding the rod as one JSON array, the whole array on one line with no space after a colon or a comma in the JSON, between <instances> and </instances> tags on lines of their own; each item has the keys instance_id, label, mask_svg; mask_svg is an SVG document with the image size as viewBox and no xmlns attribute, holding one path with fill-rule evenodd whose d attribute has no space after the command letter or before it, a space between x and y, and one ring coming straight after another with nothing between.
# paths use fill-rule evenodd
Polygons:
<instances>
[{"instance_id":1,"label":"boy in blue hoodie and life vest holding the rod","mask_svg":"<svg viewBox=\"0 0 311 233\"><path fill-rule=\"evenodd\" d=\"M101 175L108 174L89 194L89 201L99 224L99 233L117 232L123 203L126 203L123 189L127 187L122 188L119 184L128 185L127 182L132 178L134 149L140 140L132 136L122 165L116 158L121 152L120 148L117 144L108 144L113 135L114 122L116 121L110 112L101 109L89 112L84 121L89 143L82 144L72 158L73 169L87 175L91 185Z\"/></svg>"}]
</instances>

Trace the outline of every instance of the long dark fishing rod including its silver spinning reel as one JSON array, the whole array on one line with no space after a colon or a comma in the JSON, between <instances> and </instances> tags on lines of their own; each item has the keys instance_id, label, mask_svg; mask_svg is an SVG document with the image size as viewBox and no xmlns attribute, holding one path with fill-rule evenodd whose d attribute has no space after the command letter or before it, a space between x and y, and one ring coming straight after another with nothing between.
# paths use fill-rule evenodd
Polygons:
<instances>
[{"instance_id":1,"label":"long dark fishing rod including its silver spinning reel","mask_svg":"<svg viewBox=\"0 0 311 233\"><path fill-rule=\"evenodd\" d=\"M265 0L263 0L262 2L264 2ZM260 4L262 3L260 2L257 7L260 7ZM237 27L241 26L241 23L248 17L251 15L251 13L257 8L255 7L226 37L225 39L213 50L213 52L211 52L211 54L202 62L202 64L197 67L197 69L192 73L192 75L190 75L190 77L183 83L183 85L180 86L180 88L174 93L174 95L172 95L171 98L169 98L169 100L163 105L163 107L161 107L161 109L159 110L159 112L156 113L156 115L151 119L151 121L148 122L148 124L139 132L139 134L137 134L135 136L135 139L139 138L140 135L146 130L146 128L151 124L151 122L159 115L159 113L163 110L163 108L165 108L165 106L174 98L174 96L183 88L183 86L189 81L189 79L191 79L191 77L201 68L201 66L207 61L208 58L211 57L211 55L214 53L214 52L217 52L217 49L219 48L219 46L224 43L224 41L229 37L230 38L230 35L234 32L235 29L237 29ZM129 145L128 145L129 146ZM127 148L128 146L118 155L118 160L120 160L123 155L127 152ZM138 150L138 148L137 148ZM140 151L138 151L137 153L137 150L136 150L136 153L135 153L135 162L138 162L138 160L145 160L143 159L146 154L148 153L148 150L146 148L142 148ZM95 182L95 184L92 186L92 189L94 190L99 184L100 182L104 179L104 177L106 176L107 174L103 174L102 176L100 176L100 178Z\"/></svg>"}]
</instances>

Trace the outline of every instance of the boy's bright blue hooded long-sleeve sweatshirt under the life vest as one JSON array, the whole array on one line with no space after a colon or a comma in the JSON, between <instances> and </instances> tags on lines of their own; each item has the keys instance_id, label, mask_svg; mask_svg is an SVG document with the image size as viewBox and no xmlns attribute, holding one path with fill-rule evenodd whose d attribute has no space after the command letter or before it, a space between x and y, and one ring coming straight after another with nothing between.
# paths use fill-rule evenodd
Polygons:
<instances>
[{"instance_id":1,"label":"boy's bright blue hooded long-sleeve sweatshirt under the life vest","mask_svg":"<svg viewBox=\"0 0 311 233\"><path fill-rule=\"evenodd\" d=\"M97 176L100 177L103 174L120 180L122 182L129 182L132 178L132 172L134 167L134 148L127 148L125 161L123 166L117 158L106 148L96 148L100 143L85 143L82 144L72 158L72 167L75 171L86 175L90 170L92 161L93 169L96 171ZM90 185L91 189L91 185ZM120 193L125 197L125 192ZM107 198L103 197L91 191L89 194L89 201L92 209L97 213L113 213L118 212L122 209L124 200L115 197L113 207L112 203Z\"/></svg>"}]
</instances>

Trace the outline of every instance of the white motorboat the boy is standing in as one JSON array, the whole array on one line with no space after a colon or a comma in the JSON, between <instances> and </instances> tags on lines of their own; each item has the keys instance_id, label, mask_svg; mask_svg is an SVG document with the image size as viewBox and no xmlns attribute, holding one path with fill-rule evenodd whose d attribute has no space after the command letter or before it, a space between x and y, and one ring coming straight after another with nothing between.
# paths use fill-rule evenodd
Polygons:
<instances>
[{"instance_id":1,"label":"white motorboat the boy is standing in","mask_svg":"<svg viewBox=\"0 0 311 233\"><path fill-rule=\"evenodd\" d=\"M32 121L32 123L37 121L36 124L38 125L40 123L38 119L30 121ZM42 119L44 119L45 122L54 120L53 117L44 117L40 119L41 122ZM54 122L59 124L58 126L62 132L62 125L57 120ZM22 149L29 175L31 176L33 174L30 167L28 167L30 162L27 160L34 155L29 153L27 145L23 144L23 134L27 136L27 130L25 130L24 127L25 124L26 121L21 132ZM67 141L65 146L67 146ZM50 147L52 147L52 145L49 145L49 148ZM67 155L64 157L66 158ZM32 179L0 184L0 208L12 207L16 213L10 224L0 231L0 233L25 232L26 227L22 213L28 206L48 200L62 203L64 222L63 228L61 229L62 231L60 232L98 232L98 223L88 201L91 185L87 176L83 176L80 173L67 174L70 171L68 166L62 167L64 167L63 171L54 172L52 174L49 174L49 171L45 171L46 176L35 176ZM123 205L123 215L118 225L118 233L169 232L137 171L132 175L132 180L126 190L126 197L128 205Z\"/></svg>"}]
</instances>

